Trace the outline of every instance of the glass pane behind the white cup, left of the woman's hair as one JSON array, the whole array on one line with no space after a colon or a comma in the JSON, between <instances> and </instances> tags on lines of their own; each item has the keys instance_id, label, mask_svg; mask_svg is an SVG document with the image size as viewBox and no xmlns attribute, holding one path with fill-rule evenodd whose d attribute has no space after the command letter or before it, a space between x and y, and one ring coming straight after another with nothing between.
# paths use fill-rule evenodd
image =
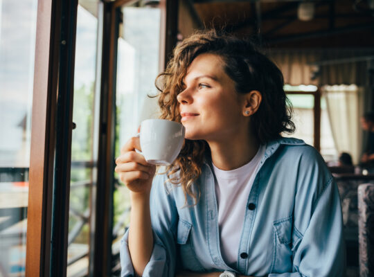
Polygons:
<instances>
[{"instance_id":1,"label":"glass pane behind the white cup, left of the woman's hair","mask_svg":"<svg viewBox=\"0 0 374 277\"><path fill-rule=\"evenodd\" d=\"M122 8L123 24L118 38L116 84L116 157L121 145L137 132L146 118L158 117L154 80L159 73L160 9L157 6ZM118 180L116 178L116 180ZM112 252L119 275L119 242L129 224L130 199L127 188L114 191L114 241Z\"/></svg>"}]
</instances>

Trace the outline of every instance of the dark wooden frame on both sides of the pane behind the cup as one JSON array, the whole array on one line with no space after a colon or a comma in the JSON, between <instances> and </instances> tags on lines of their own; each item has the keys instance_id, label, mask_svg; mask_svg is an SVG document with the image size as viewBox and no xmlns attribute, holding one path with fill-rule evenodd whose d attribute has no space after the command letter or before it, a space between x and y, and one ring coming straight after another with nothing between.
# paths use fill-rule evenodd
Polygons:
<instances>
[{"instance_id":1,"label":"dark wooden frame on both sides of the pane behind the cup","mask_svg":"<svg viewBox=\"0 0 374 277\"><path fill-rule=\"evenodd\" d=\"M94 243L90 248L100 249L90 253L90 274L109 276L112 270L112 228L114 188L114 146L116 123L116 61L118 24L121 7L136 3L134 0L104 2L103 8L103 52L100 93L100 139L98 150L98 178L96 186L96 222ZM177 44L178 1L161 0L161 32L159 69L163 71L172 49ZM93 264L91 266L91 263Z\"/></svg>"}]
</instances>

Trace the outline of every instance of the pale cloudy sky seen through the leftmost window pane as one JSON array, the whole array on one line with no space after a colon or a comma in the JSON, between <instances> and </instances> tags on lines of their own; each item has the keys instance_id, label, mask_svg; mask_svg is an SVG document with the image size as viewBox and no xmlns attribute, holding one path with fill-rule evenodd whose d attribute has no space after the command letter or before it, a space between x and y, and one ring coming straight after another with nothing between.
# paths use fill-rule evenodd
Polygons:
<instances>
[{"instance_id":1,"label":"pale cloudy sky seen through the leftmost window pane","mask_svg":"<svg viewBox=\"0 0 374 277\"><path fill-rule=\"evenodd\" d=\"M0 165L3 166L4 159L15 159L15 151L24 146L19 123L32 101L37 1L0 0L0 7Z\"/></svg>"}]
</instances>

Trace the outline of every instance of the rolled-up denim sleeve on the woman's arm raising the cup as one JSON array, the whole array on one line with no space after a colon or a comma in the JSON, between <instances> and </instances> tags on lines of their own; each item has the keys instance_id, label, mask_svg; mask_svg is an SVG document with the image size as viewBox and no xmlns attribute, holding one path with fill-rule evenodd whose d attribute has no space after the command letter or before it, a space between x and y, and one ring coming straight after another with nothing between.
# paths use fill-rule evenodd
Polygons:
<instances>
[{"instance_id":1,"label":"rolled-up denim sleeve on the woman's arm raising the cup","mask_svg":"<svg viewBox=\"0 0 374 277\"><path fill-rule=\"evenodd\" d=\"M154 178L150 196L150 210L153 231L153 250L145 266L143 277L174 277L176 267L175 233L177 208L170 195L171 188L165 184L166 177ZM128 248L128 231L121 240L121 277L135 276Z\"/></svg>"}]
</instances>

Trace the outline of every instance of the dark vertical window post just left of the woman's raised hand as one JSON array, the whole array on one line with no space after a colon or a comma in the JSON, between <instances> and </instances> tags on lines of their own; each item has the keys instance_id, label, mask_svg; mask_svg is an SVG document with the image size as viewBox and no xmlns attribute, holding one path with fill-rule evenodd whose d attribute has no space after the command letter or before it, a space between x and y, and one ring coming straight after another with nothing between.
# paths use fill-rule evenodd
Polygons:
<instances>
[{"instance_id":1,"label":"dark vertical window post just left of the woman's raised hand","mask_svg":"<svg viewBox=\"0 0 374 277\"><path fill-rule=\"evenodd\" d=\"M94 234L90 244L90 276L110 276L112 270L112 214L116 83L116 2L103 2L103 38L100 82L100 123L98 139L98 175L96 183ZM99 251L97 250L99 249Z\"/></svg>"}]
</instances>

